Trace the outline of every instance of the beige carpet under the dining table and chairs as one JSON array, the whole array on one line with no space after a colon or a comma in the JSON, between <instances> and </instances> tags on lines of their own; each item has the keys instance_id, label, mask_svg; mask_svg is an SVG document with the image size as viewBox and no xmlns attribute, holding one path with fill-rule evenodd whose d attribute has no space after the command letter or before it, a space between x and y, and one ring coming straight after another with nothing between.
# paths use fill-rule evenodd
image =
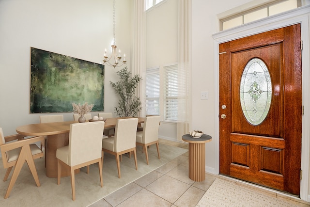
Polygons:
<instances>
[{"instance_id":1,"label":"beige carpet under the dining table and chairs","mask_svg":"<svg viewBox=\"0 0 310 207\"><path fill-rule=\"evenodd\" d=\"M159 144L159 150L160 159L157 157L155 145L152 145L148 149L149 165L147 165L145 154L142 153L142 147L137 147L138 171L135 168L133 156L129 159L127 155L123 155L123 160L121 162L121 178L118 177L115 157L105 153L103 163L103 187L100 187L97 164L90 166L90 174L86 173L86 167L81 168L80 173L75 176L75 201L72 200L70 176L62 177L61 184L57 185L57 178L49 178L46 176L44 158L35 159L41 186L37 187L35 185L27 163L25 163L11 191L10 197L4 199L9 180L5 182L2 181L6 169L3 169L2 164L0 164L0 206L86 207L187 152L187 149L162 143ZM0 160L0 162L2 163L2 160Z\"/></svg>"}]
</instances>

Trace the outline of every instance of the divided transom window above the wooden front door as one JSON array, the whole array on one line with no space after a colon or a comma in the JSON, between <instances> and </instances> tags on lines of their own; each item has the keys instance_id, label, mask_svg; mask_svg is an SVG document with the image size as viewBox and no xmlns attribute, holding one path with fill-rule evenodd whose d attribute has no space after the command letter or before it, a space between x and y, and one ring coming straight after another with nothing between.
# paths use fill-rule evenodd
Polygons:
<instances>
[{"instance_id":1,"label":"divided transom window above the wooden front door","mask_svg":"<svg viewBox=\"0 0 310 207\"><path fill-rule=\"evenodd\" d=\"M280 2L277 1L276 3L265 4L254 9L250 9L246 12L221 19L220 30L227 30L267 16L286 12L300 6L302 6L301 0L281 0Z\"/></svg>"}]
</instances>

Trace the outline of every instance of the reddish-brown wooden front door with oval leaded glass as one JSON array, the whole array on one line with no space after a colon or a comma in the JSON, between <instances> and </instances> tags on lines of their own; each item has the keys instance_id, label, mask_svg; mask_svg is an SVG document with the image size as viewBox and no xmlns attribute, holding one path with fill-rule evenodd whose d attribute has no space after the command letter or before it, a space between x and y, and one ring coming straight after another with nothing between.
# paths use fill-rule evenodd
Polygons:
<instances>
[{"instance_id":1,"label":"reddish-brown wooden front door with oval leaded glass","mask_svg":"<svg viewBox=\"0 0 310 207\"><path fill-rule=\"evenodd\" d=\"M219 172L299 195L300 24L219 45Z\"/></svg>"}]
</instances>

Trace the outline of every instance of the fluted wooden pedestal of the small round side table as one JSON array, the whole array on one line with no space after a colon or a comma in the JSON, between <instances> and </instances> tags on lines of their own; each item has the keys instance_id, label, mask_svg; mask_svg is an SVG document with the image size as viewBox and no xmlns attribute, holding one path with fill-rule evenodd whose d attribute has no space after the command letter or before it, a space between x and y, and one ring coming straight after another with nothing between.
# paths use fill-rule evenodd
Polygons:
<instances>
[{"instance_id":1,"label":"fluted wooden pedestal of the small round side table","mask_svg":"<svg viewBox=\"0 0 310 207\"><path fill-rule=\"evenodd\" d=\"M189 178L194 181L205 179L205 143L188 143Z\"/></svg>"}]
</instances>

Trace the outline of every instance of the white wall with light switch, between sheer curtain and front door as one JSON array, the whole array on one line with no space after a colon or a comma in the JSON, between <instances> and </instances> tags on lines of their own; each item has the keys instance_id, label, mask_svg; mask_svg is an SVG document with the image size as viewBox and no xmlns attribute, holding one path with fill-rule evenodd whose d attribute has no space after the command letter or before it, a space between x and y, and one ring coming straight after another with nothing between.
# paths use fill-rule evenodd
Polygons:
<instances>
[{"instance_id":1,"label":"white wall with light switch, between sheer curtain and front door","mask_svg":"<svg viewBox=\"0 0 310 207\"><path fill-rule=\"evenodd\" d=\"M193 128L211 135L213 142L206 144L206 170L216 172L217 132L215 131L214 39L219 32L217 14L250 0L204 1L192 0L192 106ZM200 99L200 92L209 92L209 99Z\"/></svg>"}]
</instances>

